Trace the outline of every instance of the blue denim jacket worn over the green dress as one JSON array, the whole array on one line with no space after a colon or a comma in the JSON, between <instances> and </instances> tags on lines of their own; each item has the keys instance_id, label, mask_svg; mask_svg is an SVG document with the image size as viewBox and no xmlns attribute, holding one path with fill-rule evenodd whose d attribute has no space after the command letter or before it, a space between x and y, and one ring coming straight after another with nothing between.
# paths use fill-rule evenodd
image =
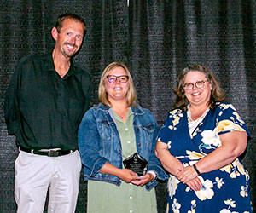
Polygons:
<instances>
[{"instance_id":1,"label":"blue denim jacket worn over the green dress","mask_svg":"<svg viewBox=\"0 0 256 213\"><path fill-rule=\"evenodd\" d=\"M154 116L148 109L140 106L131 107L131 111L134 112L133 126L137 153L148 160L148 170L154 170L158 178L164 180L167 177L166 173L154 155L159 132ZM107 181L117 186L121 184L119 177L99 172L107 162L119 169L123 168L119 132L110 107L100 103L84 114L79 126L79 152L84 164L84 181ZM146 188L149 190L155 185L156 181L149 182Z\"/></svg>"}]
</instances>

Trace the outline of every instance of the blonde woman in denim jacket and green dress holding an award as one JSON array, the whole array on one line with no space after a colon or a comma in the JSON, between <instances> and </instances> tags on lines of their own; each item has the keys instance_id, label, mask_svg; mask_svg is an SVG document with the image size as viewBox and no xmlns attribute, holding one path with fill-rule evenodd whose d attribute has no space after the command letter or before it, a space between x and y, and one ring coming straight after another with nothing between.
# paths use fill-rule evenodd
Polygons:
<instances>
[{"instance_id":1,"label":"blonde woman in denim jacket and green dress holding an award","mask_svg":"<svg viewBox=\"0 0 256 213\"><path fill-rule=\"evenodd\" d=\"M137 103L125 64L113 62L102 73L100 104L84 114L79 151L88 181L87 212L157 212L155 176L166 179L154 156L159 127L152 112ZM123 160L138 153L149 163L143 176L125 169ZM147 184L147 185L146 185ZM143 187L146 185L146 189Z\"/></svg>"}]
</instances>

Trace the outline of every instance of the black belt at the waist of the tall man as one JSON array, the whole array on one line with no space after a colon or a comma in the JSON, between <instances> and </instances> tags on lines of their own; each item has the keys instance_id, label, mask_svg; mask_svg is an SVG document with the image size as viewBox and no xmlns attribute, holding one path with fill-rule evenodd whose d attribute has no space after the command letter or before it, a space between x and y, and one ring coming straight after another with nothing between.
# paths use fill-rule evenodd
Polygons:
<instances>
[{"instance_id":1,"label":"black belt at the waist of the tall man","mask_svg":"<svg viewBox=\"0 0 256 213\"><path fill-rule=\"evenodd\" d=\"M21 151L32 154L46 155L48 157L59 157L61 155L67 155L75 152L77 149L73 150L61 150L61 148L53 148L53 149L29 149L25 147L20 147Z\"/></svg>"}]
</instances>

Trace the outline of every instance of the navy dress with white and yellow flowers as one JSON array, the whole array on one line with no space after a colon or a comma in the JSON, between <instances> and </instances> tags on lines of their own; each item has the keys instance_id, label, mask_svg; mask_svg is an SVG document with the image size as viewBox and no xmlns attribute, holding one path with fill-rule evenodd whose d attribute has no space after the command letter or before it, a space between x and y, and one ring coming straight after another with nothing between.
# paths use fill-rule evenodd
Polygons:
<instances>
[{"instance_id":1,"label":"navy dress with white and yellow flowers","mask_svg":"<svg viewBox=\"0 0 256 213\"><path fill-rule=\"evenodd\" d=\"M218 102L213 110L189 134L187 112L179 109L168 113L158 141L165 142L172 156L184 166L195 164L221 146L219 135L230 131L247 131L231 104ZM192 138L192 139L191 139ZM167 184L166 212L175 213L247 213L253 212L249 175L241 160L198 176L203 187L194 191L170 175Z\"/></svg>"}]
</instances>

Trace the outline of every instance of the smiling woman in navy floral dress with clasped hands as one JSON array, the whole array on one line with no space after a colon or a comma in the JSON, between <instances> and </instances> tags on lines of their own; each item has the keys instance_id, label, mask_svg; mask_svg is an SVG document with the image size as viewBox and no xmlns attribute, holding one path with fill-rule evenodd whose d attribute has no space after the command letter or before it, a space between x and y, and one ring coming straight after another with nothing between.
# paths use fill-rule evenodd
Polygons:
<instances>
[{"instance_id":1,"label":"smiling woman in navy floral dress with clasped hands","mask_svg":"<svg viewBox=\"0 0 256 213\"><path fill-rule=\"evenodd\" d=\"M155 153L170 173L166 212L253 212L241 164L249 132L207 66L181 72Z\"/></svg>"}]
</instances>

